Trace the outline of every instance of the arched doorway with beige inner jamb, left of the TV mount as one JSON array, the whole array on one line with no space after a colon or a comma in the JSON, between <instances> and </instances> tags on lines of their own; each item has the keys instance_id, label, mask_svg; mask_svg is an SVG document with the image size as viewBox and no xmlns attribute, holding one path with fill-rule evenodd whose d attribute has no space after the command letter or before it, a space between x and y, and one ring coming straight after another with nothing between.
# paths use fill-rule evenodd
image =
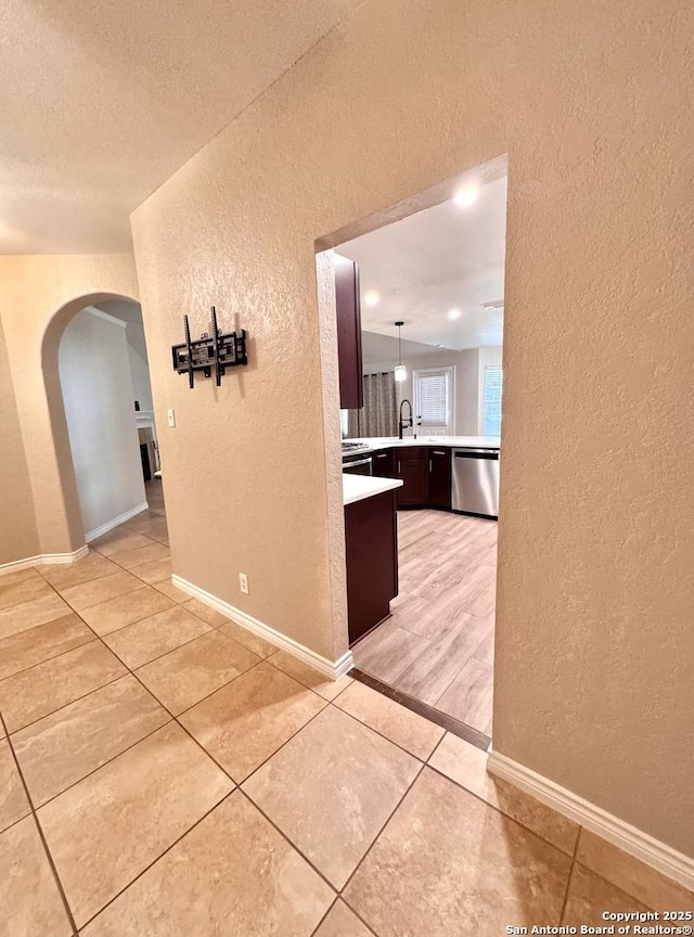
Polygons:
<instances>
[{"instance_id":1,"label":"arched doorway with beige inner jamb, left of the TV mount","mask_svg":"<svg viewBox=\"0 0 694 937\"><path fill-rule=\"evenodd\" d=\"M133 328L139 349L126 334ZM147 508L144 457L152 476L155 429L139 304L104 293L65 304L46 330L41 365L66 521L79 548ZM138 370L140 386L146 371L144 393L133 386ZM149 418L144 451L136 401Z\"/></svg>"}]
</instances>

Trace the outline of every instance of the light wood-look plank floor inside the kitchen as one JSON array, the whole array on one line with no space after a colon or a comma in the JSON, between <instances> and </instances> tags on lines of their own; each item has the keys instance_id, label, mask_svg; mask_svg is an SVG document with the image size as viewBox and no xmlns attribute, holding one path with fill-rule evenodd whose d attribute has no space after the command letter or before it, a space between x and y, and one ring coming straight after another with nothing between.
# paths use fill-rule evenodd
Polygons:
<instances>
[{"instance_id":1,"label":"light wood-look plank floor inside the kitchen","mask_svg":"<svg viewBox=\"0 0 694 937\"><path fill-rule=\"evenodd\" d=\"M490 735L497 523L399 511L398 542L400 594L355 664Z\"/></svg>"}]
</instances>

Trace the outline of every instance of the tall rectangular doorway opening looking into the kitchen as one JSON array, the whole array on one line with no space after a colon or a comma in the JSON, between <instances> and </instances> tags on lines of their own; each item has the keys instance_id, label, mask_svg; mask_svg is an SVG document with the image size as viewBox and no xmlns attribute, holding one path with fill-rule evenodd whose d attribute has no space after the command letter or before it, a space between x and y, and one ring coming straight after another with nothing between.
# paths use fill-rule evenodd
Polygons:
<instances>
[{"instance_id":1,"label":"tall rectangular doorway opening looking into the kitchen","mask_svg":"<svg viewBox=\"0 0 694 937\"><path fill-rule=\"evenodd\" d=\"M492 726L506 188L500 157L330 244L351 672L483 748ZM388 479L390 493L378 487ZM370 486L377 493L347 496ZM380 589L387 601L356 594Z\"/></svg>"}]
</instances>

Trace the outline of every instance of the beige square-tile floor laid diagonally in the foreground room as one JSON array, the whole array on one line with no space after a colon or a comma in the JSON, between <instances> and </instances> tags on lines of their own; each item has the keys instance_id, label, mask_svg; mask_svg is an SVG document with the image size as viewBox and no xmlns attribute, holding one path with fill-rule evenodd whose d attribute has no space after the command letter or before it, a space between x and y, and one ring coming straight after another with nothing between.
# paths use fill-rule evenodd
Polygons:
<instances>
[{"instance_id":1,"label":"beige square-tile floor laid diagonally in the foreground room","mask_svg":"<svg viewBox=\"0 0 694 937\"><path fill-rule=\"evenodd\" d=\"M152 579L167 556L114 593L165 524L0 578L2 937L491 937L693 907L478 748Z\"/></svg>"}]
</instances>

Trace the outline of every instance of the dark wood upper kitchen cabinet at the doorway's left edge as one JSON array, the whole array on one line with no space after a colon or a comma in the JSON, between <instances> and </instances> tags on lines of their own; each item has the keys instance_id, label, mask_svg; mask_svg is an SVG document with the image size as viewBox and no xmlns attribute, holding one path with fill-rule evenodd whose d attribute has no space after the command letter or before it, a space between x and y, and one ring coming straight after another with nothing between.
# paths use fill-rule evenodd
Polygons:
<instances>
[{"instance_id":1,"label":"dark wood upper kitchen cabinet at the doorway's left edge","mask_svg":"<svg viewBox=\"0 0 694 937\"><path fill-rule=\"evenodd\" d=\"M364 406L359 267L340 254L335 254L334 258L339 407L342 410L359 410Z\"/></svg>"}]
</instances>

